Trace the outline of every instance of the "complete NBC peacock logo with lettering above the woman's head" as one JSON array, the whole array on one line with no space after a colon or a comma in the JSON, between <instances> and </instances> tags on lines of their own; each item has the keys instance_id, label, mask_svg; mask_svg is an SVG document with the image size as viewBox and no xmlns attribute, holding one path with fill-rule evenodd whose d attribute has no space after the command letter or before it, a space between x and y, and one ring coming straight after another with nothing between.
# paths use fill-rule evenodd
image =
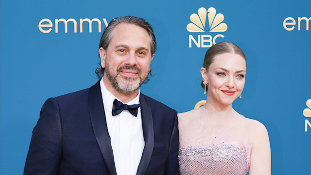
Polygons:
<instances>
[{"instance_id":1,"label":"complete NBC peacock logo with lettering above the woman's head","mask_svg":"<svg viewBox=\"0 0 311 175\"><path fill-rule=\"evenodd\" d=\"M207 15L208 12L208 15ZM208 18L208 26L206 26L206 17ZM190 21L187 25L187 31L194 32L205 32L208 27L209 32L225 32L228 29L227 24L224 21L225 17L223 14L216 14L216 9L214 7L206 8L201 7L198 10L198 14L191 14ZM208 30L207 29L207 30ZM189 35L189 48L192 47L192 41L196 45L196 47L200 48L208 48L213 44L216 44L216 38L222 37L224 35L218 34L214 37L212 35L197 35L197 40L193 37L193 35Z\"/></svg>"}]
</instances>

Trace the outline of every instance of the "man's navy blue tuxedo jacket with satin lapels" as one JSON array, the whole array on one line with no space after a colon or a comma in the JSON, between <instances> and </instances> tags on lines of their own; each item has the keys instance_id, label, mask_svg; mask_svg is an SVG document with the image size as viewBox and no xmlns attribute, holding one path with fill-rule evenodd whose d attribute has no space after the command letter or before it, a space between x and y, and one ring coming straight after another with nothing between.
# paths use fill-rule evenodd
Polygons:
<instances>
[{"instance_id":1,"label":"man's navy blue tuxedo jacket with satin lapels","mask_svg":"<svg viewBox=\"0 0 311 175\"><path fill-rule=\"evenodd\" d=\"M140 93L145 147L137 175L178 175L175 110ZM116 175L100 83L48 99L33 130L24 175Z\"/></svg>"}]
</instances>

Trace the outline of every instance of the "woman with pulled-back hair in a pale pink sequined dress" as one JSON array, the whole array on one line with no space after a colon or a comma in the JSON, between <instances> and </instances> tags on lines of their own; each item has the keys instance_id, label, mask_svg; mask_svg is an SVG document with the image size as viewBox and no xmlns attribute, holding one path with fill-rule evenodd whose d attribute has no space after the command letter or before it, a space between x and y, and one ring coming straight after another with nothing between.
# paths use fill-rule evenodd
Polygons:
<instances>
[{"instance_id":1,"label":"woman with pulled-back hair in a pale pink sequined dress","mask_svg":"<svg viewBox=\"0 0 311 175\"><path fill-rule=\"evenodd\" d=\"M232 108L245 84L246 59L233 43L208 49L201 86L206 104L178 115L181 175L271 175L268 132Z\"/></svg>"}]
</instances>

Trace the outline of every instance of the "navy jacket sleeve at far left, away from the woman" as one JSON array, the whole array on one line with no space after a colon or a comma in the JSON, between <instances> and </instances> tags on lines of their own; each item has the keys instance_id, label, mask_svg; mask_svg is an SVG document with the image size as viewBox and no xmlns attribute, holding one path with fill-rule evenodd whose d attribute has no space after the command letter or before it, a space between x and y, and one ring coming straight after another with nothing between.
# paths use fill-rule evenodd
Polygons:
<instances>
[{"instance_id":1,"label":"navy jacket sleeve at far left, away from the woman","mask_svg":"<svg viewBox=\"0 0 311 175\"><path fill-rule=\"evenodd\" d=\"M54 98L41 108L33 130L24 175L57 175L62 155L62 131L59 106Z\"/></svg>"}]
</instances>

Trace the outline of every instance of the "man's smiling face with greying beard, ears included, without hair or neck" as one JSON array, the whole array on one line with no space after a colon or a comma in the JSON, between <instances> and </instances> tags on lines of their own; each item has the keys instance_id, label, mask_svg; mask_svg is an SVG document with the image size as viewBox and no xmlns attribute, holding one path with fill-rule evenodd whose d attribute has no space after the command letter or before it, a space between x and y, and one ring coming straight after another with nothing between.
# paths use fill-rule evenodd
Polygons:
<instances>
[{"instance_id":1,"label":"man's smiling face with greying beard, ears included, without hair or neck","mask_svg":"<svg viewBox=\"0 0 311 175\"><path fill-rule=\"evenodd\" d=\"M105 80L118 92L133 93L145 81L150 70L150 37L134 24L118 24L113 29L107 50L100 48Z\"/></svg>"}]
</instances>

